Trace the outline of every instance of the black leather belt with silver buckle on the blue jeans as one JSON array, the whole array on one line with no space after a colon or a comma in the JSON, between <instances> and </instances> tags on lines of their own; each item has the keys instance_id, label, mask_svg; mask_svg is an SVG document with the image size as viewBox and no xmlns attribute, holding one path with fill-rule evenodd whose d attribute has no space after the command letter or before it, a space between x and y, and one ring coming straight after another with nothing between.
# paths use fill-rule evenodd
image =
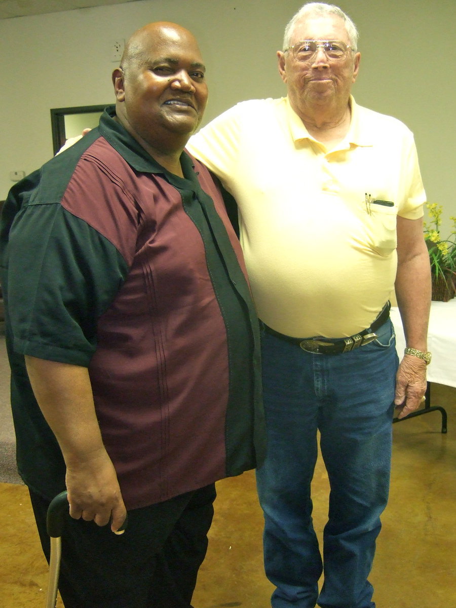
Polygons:
<instances>
[{"instance_id":1,"label":"black leather belt with silver buckle on the blue jeans","mask_svg":"<svg viewBox=\"0 0 456 608\"><path fill-rule=\"evenodd\" d=\"M286 340L287 342L291 342L291 344L295 344L305 350L308 353L317 353L317 354L339 354L339 353L349 353L351 350L355 348L359 348L360 346L364 346L365 344L369 344L376 339L375 331L378 330L389 318L390 316L390 302L387 302L382 308L381 313L375 319L375 321L371 324L367 330L360 331L359 334L354 334L354 336L350 336L348 338L340 338L340 339L331 339L331 338L323 338L323 337L314 337L314 338L294 338L291 336L286 336L285 334L281 334L278 331L272 330L271 327L268 327L265 323L263 323L264 331L267 331L268 334L272 334L273 336L277 336L282 338L282 340Z\"/></svg>"}]
</instances>

